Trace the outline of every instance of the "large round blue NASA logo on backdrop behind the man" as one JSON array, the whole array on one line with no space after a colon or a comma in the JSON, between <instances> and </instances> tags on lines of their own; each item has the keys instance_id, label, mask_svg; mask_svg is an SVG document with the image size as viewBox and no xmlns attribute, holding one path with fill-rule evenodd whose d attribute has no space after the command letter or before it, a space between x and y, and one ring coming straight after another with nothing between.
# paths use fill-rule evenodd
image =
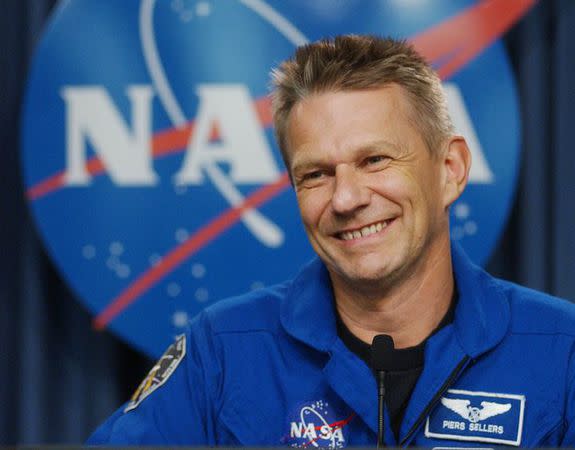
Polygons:
<instances>
[{"instance_id":1,"label":"large round blue NASA logo on backdrop behind the man","mask_svg":"<svg viewBox=\"0 0 575 450\"><path fill-rule=\"evenodd\" d=\"M442 77L474 161L452 236L485 262L519 162L497 39L532 3L63 2L33 60L21 130L50 256L97 328L153 356L206 305L295 275L313 252L273 138L269 72L306 42L375 33L408 38Z\"/></svg>"}]
</instances>

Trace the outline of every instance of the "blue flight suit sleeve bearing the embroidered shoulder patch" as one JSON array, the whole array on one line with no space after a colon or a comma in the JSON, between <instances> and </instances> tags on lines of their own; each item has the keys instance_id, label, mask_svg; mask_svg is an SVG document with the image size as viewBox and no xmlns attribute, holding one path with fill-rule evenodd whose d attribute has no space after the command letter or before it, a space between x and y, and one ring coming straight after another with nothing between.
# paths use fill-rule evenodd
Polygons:
<instances>
[{"instance_id":1,"label":"blue flight suit sleeve bearing the embroidered shoulder patch","mask_svg":"<svg viewBox=\"0 0 575 450\"><path fill-rule=\"evenodd\" d=\"M216 445L212 399L219 371L212 344L202 313L192 322L190 332L168 347L132 399L109 417L87 444Z\"/></svg>"}]
</instances>

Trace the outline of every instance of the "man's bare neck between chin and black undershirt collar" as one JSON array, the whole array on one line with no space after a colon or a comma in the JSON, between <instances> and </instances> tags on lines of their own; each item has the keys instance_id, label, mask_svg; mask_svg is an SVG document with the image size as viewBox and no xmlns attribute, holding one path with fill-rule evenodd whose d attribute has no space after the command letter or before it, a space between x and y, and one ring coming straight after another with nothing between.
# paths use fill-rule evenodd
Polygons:
<instances>
[{"instance_id":1,"label":"man's bare neck between chin and black undershirt collar","mask_svg":"<svg viewBox=\"0 0 575 450\"><path fill-rule=\"evenodd\" d=\"M358 290L332 276L338 313L355 336L371 343L388 334L396 348L407 348L432 333L449 309L454 281L449 238L431 250L408 277L390 286Z\"/></svg>"}]
</instances>

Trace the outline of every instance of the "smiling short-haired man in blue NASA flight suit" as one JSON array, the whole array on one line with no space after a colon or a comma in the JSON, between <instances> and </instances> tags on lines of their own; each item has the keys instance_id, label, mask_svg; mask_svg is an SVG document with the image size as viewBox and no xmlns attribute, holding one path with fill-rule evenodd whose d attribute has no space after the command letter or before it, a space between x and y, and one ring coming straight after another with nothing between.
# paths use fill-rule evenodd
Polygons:
<instances>
[{"instance_id":1,"label":"smiling short-haired man in blue NASA flight suit","mask_svg":"<svg viewBox=\"0 0 575 450\"><path fill-rule=\"evenodd\" d=\"M274 71L274 123L319 259L197 317L90 443L375 445L370 343L390 336L388 446L575 442L575 310L450 243L470 154L404 42L343 36Z\"/></svg>"}]
</instances>

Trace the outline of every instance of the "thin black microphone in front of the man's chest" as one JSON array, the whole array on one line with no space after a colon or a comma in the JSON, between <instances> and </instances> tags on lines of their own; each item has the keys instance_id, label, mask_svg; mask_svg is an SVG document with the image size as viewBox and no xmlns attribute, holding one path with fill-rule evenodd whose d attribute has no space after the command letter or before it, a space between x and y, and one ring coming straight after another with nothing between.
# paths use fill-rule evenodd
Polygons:
<instances>
[{"instance_id":1,"label":"thin black microphone in front of the man's chest","mask_svg":"<svg viewBox=\"0 0 575 450\"><path fill-rule=\"evenodd\" d=\"M385 372L392 359L393 338L378 334L371 343L371 368L377 379L377 448L385 447L385 426L383 408L385 404Z\"/></svg>"}]
</instances>

